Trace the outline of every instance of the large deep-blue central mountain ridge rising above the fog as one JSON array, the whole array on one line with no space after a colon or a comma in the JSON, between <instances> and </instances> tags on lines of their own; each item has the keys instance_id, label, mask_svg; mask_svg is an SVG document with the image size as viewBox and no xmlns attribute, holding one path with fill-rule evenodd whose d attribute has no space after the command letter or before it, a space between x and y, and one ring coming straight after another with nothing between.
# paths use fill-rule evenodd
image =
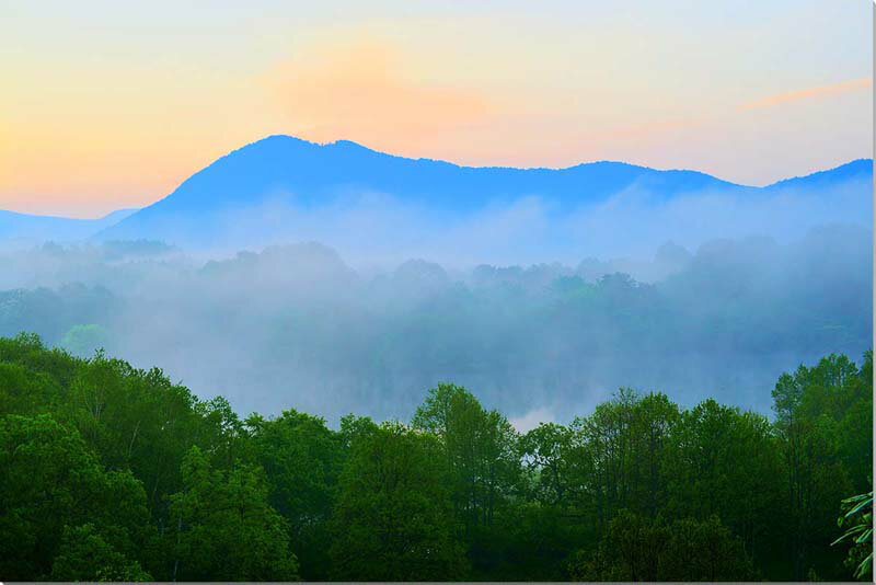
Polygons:
<instances>
[{"instance_id":1,"label":"large deep-blue central mountain ridge rising above the fog","mask_svg":"<svg viewBox=\"0 0 876 585\"><path fill-rule=\"evenodd\" d=\"M348 140L318 145L272 136L220 158L127 223L169 211L256 202L278 191L293 194L303 206L322 205L339 193L369 190L437 208L470 210L525 195L564 204L599 200L633 183L664 195L730 185L699 172L655 171L622 162L560 170L473 168L395 157Z\"/></svg>"}]
</instances>

